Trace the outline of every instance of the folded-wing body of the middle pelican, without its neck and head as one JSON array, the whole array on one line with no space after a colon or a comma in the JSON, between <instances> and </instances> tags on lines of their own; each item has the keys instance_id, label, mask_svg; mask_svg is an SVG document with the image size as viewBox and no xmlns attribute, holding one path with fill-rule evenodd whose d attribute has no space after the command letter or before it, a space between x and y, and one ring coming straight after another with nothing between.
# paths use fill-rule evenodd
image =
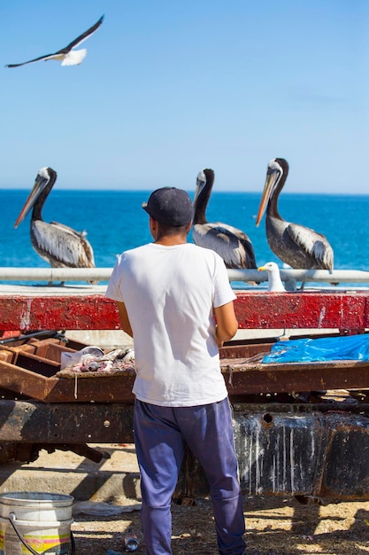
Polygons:
<instances>
[{"instance_id":1,"label":"folded-wing body of the middle pelican, without its neck and head","mask_svg":"<svg viewBox=\"0 0 369 555\"><path fill-rule=\"evenodd\" d=\"M194 242L219 254L227 268L257 268L250 239L227 223L194 225Z\"/></svg>"}]
</instances>

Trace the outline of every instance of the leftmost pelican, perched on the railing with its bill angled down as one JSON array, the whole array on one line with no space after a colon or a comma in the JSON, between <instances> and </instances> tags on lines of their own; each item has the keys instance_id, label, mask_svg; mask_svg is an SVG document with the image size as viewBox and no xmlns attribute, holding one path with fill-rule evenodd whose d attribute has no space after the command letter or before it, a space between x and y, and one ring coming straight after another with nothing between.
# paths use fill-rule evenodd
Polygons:
<instances>
[{"instance_id":1,"label":"leftmost pelican, perched on the railing with its bill angled down","mask_svg":"<svg viewBox=\"0 0 369 555\"><path fill-rule=\"evenodd\" d=\"M85 233L78 233L63 223L42 220L43 204L56 180L57 173L53 169L40 169L14 227L19 226L33 207L31 243L51 268L95 268L94 253Z\"/></svg>"}]
</instances>

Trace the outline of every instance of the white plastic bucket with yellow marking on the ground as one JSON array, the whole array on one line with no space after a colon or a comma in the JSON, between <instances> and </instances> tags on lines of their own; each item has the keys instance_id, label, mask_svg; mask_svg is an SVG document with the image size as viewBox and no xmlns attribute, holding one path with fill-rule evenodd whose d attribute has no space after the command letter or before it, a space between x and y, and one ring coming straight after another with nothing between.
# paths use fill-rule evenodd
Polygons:
<instances>
[{"instance_id":1,"label":"white plastic bucket with yellow marking on the ground","mask_svg":"<svg viewBox=\"0 0 369 555\"><path fill-rule=\"evenodd\" d=\"M13 492L0 495L0 555L73 555L73 496Z\"/></svg>"}]
</instances>

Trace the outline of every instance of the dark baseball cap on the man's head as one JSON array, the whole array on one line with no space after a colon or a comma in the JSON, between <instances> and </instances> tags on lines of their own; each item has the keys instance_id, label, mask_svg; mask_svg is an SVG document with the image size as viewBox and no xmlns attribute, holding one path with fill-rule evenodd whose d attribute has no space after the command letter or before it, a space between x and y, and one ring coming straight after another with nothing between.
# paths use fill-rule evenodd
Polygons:
<instances>
[{"instance_id":1,"label":"dark baseball cap on the man's head","mask_svg":"<svg viewBox=\"0 0 369 555\"><path fill-rule=\"evenodd\" d=\"M192 202L186 191L176 187L162 187L151 192L142 208L158 223L188 225L192 220Z\"/></svg>"}]
</instances>

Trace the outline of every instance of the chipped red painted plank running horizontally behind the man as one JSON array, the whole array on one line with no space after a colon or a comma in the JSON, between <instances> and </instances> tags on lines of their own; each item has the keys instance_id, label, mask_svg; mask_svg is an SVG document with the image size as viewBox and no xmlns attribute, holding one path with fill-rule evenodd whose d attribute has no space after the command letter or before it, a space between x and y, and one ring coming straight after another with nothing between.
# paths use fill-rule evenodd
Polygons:
<instances>
[{"instance_id":1,"label":"chipped red painted plank running horizontally behind the man","mask_svg":"<svg viewBox=\"0 0 369 555\"><path fill-rule=\"evenodd\" d=\"M369 328L369 291L237 292L240 329ZM115 302L104 294L0 296L0 330L118 330Z\"/></svg>"}]
</instances>

